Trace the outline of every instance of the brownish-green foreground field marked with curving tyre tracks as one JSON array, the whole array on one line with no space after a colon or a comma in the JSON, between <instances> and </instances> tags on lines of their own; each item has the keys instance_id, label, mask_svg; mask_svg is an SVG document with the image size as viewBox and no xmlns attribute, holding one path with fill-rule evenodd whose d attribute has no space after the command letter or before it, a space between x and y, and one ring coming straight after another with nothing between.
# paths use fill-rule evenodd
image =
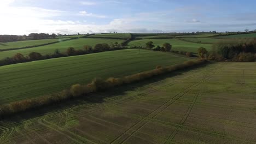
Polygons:
<instances>
[{"instance_id":1,"label":"brownish-green foreground field marked with curving tyre tracks","mask_svg":"<svg viewBox=\"0 0 256 144\"><path fill-rule=\"evenodd\" d=\"M17 115L0 142L255 143L255 66L208 64Z\"/></svg>"}]
</instances>

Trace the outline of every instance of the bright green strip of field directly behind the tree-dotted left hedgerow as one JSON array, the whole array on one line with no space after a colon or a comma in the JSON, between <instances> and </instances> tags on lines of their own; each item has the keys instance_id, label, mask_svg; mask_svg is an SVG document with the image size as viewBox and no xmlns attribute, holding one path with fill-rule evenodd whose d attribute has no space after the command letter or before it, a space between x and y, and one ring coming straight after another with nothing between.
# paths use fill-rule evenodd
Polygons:
<instances>
[{"instance_id":1,"label":"bright green strip of field directly behind the tree-dotted left hedgerow","mask_svg":"<svg viewBox=\"0 0 256 144\"><path fill-rule=\"evenodd\" d=\"M22 53L22 55L27 56L30 52L39 52L42 55L54 53L56 49L60 50L60 52L66 52L68 47L72 46L75 49L83 49L84 45L91 45L95 46L98 43L121 43L123 40L120 39L93 39L93 38L79 38L74 40L63 41L61 43L39 46L39 47L32 47L28 49L21 49L21 50L12 50L12 51L3 51L0 52L0 59L5 57L12 57L16 53Z\"/></svg>"}]
</instances>

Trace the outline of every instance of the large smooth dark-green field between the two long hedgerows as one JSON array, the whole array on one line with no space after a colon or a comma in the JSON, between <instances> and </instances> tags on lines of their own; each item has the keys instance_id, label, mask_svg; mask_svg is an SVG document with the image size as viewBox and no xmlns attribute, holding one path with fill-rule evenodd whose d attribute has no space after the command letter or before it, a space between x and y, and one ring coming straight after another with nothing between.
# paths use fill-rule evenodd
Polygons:
<instances>
[{"instance_id":1,"label":"large smooth dark-green field between the two long hedgerows","mask_svg":"<svg viewBox=\"0 0 256 144\"><path fill-rule=\"evenodd\" d=\"M0 67L0 104L62 91L71 85L173 65L189 58L149 50L118 50Z\"/></svg>"}]
</instances>

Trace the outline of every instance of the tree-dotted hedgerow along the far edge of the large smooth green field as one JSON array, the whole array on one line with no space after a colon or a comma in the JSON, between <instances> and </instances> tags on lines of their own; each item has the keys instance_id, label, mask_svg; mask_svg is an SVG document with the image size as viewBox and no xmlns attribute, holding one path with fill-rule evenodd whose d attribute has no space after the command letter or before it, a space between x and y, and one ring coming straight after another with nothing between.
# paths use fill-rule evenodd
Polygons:
<instances>
[{"instance_id":1,"label":"tree-dotted hedgerow along the far edge of the large smooth green field","mask_svg":"<svg viewBox=\"0 0 256 144\"><path fill-rule=\"evenodd\" d=\"M66 52L61 53L59 50L55 50L55 52L51 55L41 55L38 52L31 52L28 56L24 56L21 53L16 53L13 57L6 57L0 60L0 66L16 64L16 63L24 63L31 61L38 61L43 59L50 58L58 58L58 57L68 57L68 56L77 56L77 55L86 55L89 53L103 52L103 51L112 51L112 50L121 50L125 49L125 47L120 47L116 45L108 45L108 44L96 44L94 49L91 46L85 45L83 50L75 50L74 47L68 47Z\"/></svg>"}]
</instances>

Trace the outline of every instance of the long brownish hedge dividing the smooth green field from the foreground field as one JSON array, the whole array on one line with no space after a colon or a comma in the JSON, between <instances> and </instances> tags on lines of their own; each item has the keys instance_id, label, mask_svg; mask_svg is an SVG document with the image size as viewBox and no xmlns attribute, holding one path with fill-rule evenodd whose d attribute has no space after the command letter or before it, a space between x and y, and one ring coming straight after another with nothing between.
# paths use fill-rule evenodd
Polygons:
<instances>
[{"instance_id":1,"label":"long brownish hedge dividing the smooth green field from the foreground field","mask_svg":"<svg viewBox=\"0 0 256 144\"><path fill-rule=\"evenodd\" d=\"M26 111L28 109L34 109L47 104L59 103L63 100L67 100L74 97L86 96L92 92L102 91L104 89L109 89L115 86L124 85L127 83L132 83L136 81L141 81L148 79L150 77L165 74L174 70L181 70L194 65L199 65L204 63L204 60L199 61L188 61L182 64L176 64L168 67L156 67L154 70L144 71L142 73L137 73L125 77L114 78L110 77L107 80L94 79L88 85L76 84L71 86L69 89L65 89L57 94L51 94L45 97L34 98L29 100L21 100L13 103L5 104L0 106L0 116L7 116L13 113Z\"/></svg>"}]
</instances>

